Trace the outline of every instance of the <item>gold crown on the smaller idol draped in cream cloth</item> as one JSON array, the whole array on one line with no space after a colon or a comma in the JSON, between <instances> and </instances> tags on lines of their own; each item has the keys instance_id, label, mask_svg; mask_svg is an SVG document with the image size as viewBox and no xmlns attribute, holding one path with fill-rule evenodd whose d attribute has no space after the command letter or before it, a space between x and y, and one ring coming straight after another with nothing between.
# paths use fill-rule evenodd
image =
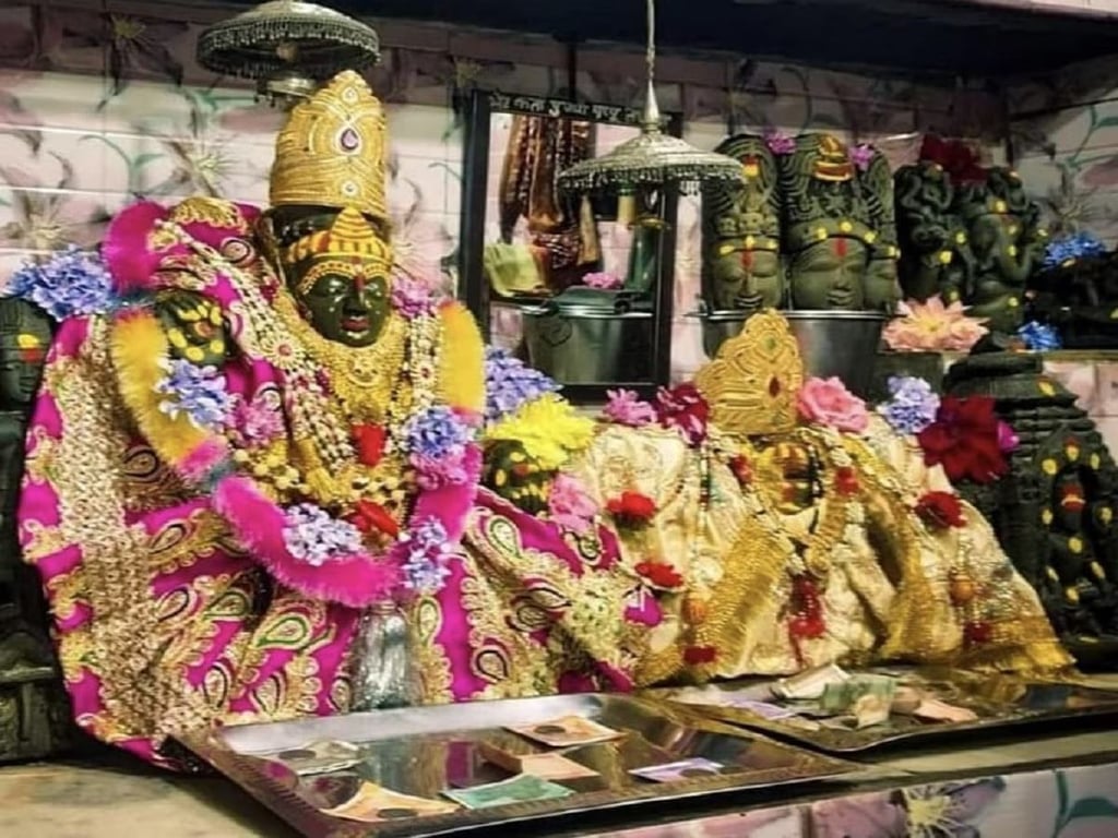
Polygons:
<instances>
[{"instance_id":1,"label":"gold crown on the smaller idol draped in cream cloth","mask_svg":"<svg viewBox=\"0 0 1118 838\"><path fill-rule=\"evenodd\" d=\"M714 426L749 437L796 427L796 394L803 383L799 344L775 310L750 316L741 333L723 343L695 375Z\"/></svg>"}]
</instances>

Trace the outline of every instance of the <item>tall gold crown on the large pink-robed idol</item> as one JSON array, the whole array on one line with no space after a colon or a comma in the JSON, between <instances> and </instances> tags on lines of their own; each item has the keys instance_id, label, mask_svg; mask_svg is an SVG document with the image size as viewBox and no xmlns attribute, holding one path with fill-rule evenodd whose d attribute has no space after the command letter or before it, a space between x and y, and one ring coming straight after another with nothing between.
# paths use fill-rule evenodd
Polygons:
<instances>
[{"instance_id":1,"label":"tall gold crown on the large pink-robed idol","mask_svg":"<svg viewBox=\"0 0 1118 838\"><path fill-rule=\"evenodd\" d=\"M276 139L273 207L354 207L385 225L385 145L380 101L357 73L340 73L292 109Z\"/></svg>"}]
</instances>

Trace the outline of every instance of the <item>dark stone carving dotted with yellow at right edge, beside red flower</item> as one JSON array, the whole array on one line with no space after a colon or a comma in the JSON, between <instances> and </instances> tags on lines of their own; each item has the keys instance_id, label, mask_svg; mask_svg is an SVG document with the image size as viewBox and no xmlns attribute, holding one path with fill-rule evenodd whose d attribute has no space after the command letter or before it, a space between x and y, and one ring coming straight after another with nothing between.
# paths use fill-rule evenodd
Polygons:
<instances>
[{"instance_id":1,"label":"dark stone carving dotted with yellow at right edge, beside red flower","mask_svg":"<svg viewBox=\"0 0 1118 838\"><path fill-rule=\"evenodd\" d=\"M988 396L1020 438L1010 474L960 485L1036 588L1072 653L1087 663L1118 646L1118 467L1073 393L1036 355L974 354L951 368L954 396ZM1100 640L1107 642L1100 644ZM1086 658L1086 659L1084 659Z\"/></svg>"}]
</instances>

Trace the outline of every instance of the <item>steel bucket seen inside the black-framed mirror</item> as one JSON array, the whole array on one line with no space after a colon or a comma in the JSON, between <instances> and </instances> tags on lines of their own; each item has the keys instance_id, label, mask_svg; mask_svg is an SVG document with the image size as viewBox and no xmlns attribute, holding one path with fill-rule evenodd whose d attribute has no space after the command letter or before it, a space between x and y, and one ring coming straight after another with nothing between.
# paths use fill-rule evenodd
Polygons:
<instances>
[{"instance_id":1,"label":"steel bucket seen inside the black-framed mirror","mask_svg":"<svg viewBox=\"0 0 1118 838\"><path fill-rule=\"evenodd\" d=\"M565 384L647 381L652 313L586 306L524 308L524 343L532 366Z\"/></svg>"}]
</instances>

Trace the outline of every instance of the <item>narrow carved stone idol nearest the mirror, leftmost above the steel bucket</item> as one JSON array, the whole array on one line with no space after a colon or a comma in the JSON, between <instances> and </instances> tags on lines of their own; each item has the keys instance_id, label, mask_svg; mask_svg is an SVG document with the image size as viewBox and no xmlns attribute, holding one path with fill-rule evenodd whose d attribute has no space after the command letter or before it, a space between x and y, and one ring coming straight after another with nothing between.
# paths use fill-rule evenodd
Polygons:
<instances>
[{"instance_id":1,"label":"narrow carved stone idol nearest the mirror, leftmost above the steel bucket","mask_svg":"<svg viewBox=\"0 0 1118 838\"><path fill-rule=\"evenodd\" d=\"M742 179L703 192L703 302L711 311L780 307L786 287L776 159L754 134L727 137L716 151L741 162Z\"/></svg>"}]
</instances>

